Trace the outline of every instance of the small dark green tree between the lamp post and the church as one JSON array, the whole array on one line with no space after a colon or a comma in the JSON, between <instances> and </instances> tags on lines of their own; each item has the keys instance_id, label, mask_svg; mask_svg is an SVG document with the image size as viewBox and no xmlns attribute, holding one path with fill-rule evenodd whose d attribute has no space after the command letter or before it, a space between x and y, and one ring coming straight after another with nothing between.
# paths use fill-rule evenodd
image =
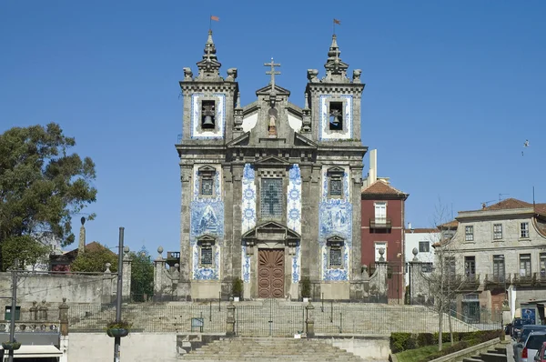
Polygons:
<instances>
[{"instance_id":1,"label":"small dark green tree between the lamp post and the church","mask_svg":"<svg viewBox=\"0 0 546 362\"><path fill-rule=\"evenodd\" d=\"M131 300L146 302L154 295L154 264L146 250L131 252Z\"/></svg>"}]
</instances>

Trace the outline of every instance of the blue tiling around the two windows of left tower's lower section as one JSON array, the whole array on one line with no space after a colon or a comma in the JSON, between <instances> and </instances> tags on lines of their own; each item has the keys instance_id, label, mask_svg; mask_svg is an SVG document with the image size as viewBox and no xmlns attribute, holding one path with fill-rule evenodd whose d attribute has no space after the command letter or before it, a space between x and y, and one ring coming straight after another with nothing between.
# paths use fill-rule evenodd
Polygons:
<instances>
[{"instance_id":1,"label":"blue tiling around the two windows of left tower's lower section","mask_svg":"<svg viewBox=\"0 0 546 362\"><path fill-rule=\"evenodd\" d=\"M195 280L217 280L220 270L220 250L224 244L224 202L222 201L222 186L220 177L222 169L220 166L214 166L217 169L214 187L215 194L212 197L201 197L199 195L199 176L198 168L202 165L194 166L194 190L193 201L190 204L190 229L189 242L192 246L192 272ZM214 267L199 267L199 248L197 246L197 237L210 235L217 238L215 247Z\"/></svg>"}]
</instances>

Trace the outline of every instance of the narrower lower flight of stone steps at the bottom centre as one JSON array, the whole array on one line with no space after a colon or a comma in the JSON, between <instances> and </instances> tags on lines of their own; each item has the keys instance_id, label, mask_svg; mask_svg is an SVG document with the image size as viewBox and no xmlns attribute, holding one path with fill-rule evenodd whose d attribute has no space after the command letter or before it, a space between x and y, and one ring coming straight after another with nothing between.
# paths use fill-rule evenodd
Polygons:
<instances>
[{"instance_id":1,"label":"narrower lower flight of stone steps at the bottom centre","mask_svg":"<svg viewBox=\"0 0 546 362\"><path fill-rule=\"evenodd\" d=\"M296 338L217 340L182 358L186 361L365 361L328 341ZM370 359L371 360L371 359Z\"/></svg>"}]
</instances>

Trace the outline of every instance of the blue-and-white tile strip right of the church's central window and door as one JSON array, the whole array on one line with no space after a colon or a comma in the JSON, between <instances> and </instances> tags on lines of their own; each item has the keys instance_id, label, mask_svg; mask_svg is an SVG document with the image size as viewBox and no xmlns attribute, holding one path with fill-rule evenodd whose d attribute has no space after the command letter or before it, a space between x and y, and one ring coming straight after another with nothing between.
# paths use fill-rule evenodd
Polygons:
<instances>
[{"instance_id":1,"label":"blue-and-white tile strip right of the church's central window and door","mask_svg":"<svg viewBox=\"0 0 546 362\"><path fill-rule=\"evenodd\" d=\"M287 224L288 228L301 234L301 172L298 164L288 170L288 197L287 197ZM292 256L292 281L298 283L301 267L299 246Z\"/></svg>"}]
</instances>

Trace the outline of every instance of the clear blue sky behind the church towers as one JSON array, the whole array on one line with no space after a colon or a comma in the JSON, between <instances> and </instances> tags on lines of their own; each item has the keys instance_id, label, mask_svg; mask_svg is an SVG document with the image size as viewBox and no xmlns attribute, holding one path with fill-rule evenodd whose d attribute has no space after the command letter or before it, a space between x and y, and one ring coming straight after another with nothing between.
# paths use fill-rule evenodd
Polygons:
<instances>
[{"instance_id":1,"label":"clear blue sky behind the church towers","mask_svg":"<svg viewBox=\"0 0 546 362\"><path fill-rule=\"evenodd\" d=\"M178 249L178 80L184 66L197 73L211 14L243 104L274 56L278 85L303 106L306 70L323 74L341 20L341 58L367 84L363 143L378 149L379 176L410 193L414 227L431 226L439 198L456 213L499 194L531 201L535 186L546 202L544 1L5 0L0 132L54 121L93 158L88 241L115 246L125 226L132 249Z\"/></svg>"}]
</instances>

